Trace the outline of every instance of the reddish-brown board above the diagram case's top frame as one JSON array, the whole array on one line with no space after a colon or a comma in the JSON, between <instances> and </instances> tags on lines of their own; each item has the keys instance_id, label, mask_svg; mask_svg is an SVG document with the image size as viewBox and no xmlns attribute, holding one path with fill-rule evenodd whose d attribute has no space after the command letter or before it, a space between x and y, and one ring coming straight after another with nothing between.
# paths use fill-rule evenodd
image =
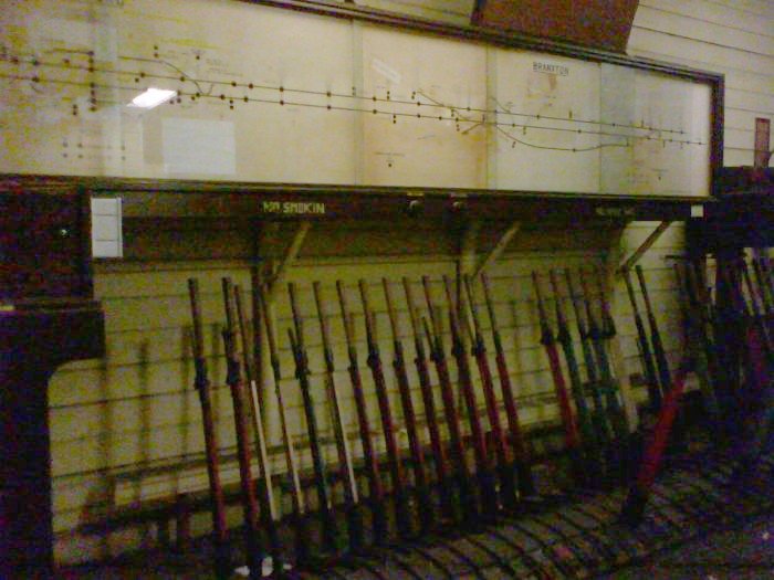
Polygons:
<instances>
[{"instance_id":1,"label":"reddish-brown board above the diagram case's top frame","mask_svg":"<svg viewBox=\"0 0 774 580\"><path fill-rule=\"evenodd\" d=\"M472 23L626 52L638 0L478 0Z\"/></svg>"}]
</instances>

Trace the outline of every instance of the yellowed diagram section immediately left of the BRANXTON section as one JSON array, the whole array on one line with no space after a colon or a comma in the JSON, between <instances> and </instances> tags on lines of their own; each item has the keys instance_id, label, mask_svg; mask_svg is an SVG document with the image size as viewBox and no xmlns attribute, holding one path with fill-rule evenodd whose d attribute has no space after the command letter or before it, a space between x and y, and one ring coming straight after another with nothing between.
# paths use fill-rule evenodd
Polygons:
<instances>
[{"instance_id":1,"label":"yellowed diagram section immediately left of the BRANXTON section","mask_svg":"<svg viewBox=\"0 0 774 580\"><path fill-rule=\"evenodd\" d=\"M368 27L363 78L394 113L363 118L366 183L487 187L485 48Z\"/></svg>"}]
</instances>

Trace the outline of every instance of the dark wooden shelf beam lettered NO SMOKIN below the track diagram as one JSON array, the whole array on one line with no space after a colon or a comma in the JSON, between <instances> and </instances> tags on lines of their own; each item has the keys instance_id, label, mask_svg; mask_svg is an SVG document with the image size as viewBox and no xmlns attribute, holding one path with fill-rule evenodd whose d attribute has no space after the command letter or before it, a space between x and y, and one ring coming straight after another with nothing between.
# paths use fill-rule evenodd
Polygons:
<instances>
[{"instance_id":1,"label":"dark wooden shelf beam lettered NO SMOKIN below the track diagram","mask_svg":"<svg viewBox=\"0 0 774 580\"><path fill-rule=\"evenodd\" d=\"M66 176L0 176L0 192L72 191L123 199L124 219L254 218L446 220L481 218L551 223L671 220L690 218L691 207L711 199L668 196L613 196L519 190L248 183L171 179ZM287 205L285 205L285 203ZM293 203L324 204L292 205ZM297 211L296 211L297 209ZM289 211L287 211L289 210Z\"/></svg>"}]
</instances>

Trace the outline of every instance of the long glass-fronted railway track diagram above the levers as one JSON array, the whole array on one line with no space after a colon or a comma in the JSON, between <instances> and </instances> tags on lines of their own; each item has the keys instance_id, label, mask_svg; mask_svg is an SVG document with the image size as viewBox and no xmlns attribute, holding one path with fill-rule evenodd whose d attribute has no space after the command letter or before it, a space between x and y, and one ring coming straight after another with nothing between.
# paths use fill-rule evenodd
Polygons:
<instances>
[{"instance_id":1,"label":"long glass-fronted railway track diagram above the levers","mask_svg":"<svg viewBox=\"0 0 774 580\"><path fill-rule=\"evenodd\" d=\"M710 193L712 86L245 2L3 10L0 171ZM153 108L133 101L169 91Z\"/></svg>"}]
</instances>

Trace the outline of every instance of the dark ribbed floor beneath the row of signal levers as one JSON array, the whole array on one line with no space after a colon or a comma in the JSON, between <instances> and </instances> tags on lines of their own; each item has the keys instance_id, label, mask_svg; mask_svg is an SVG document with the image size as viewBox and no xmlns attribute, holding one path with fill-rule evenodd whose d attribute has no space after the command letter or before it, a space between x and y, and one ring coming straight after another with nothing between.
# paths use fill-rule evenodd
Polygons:
<instances>
[{"instance_id":1,"label":"dark ribbed floor beneath the row of signal levers","mask_svg":"<svg viewBox=\"0 0 774 580\"><path fill-rule=\"evenodd\" d=\"M618 523L624 489L582 492L558 503L544 497L520 514L499 517L496 524L443 530L300 578L774 579L774 457L742 486L728 485L732 460L733 454L681 460L653 487L646 518L636 530ZM210 562L210 547L197 541L186 553L135 553L62 570L59 577L206 579L213 578ZM600 573L614 566L615 571Z\"/></svg>"}]
</instances>

